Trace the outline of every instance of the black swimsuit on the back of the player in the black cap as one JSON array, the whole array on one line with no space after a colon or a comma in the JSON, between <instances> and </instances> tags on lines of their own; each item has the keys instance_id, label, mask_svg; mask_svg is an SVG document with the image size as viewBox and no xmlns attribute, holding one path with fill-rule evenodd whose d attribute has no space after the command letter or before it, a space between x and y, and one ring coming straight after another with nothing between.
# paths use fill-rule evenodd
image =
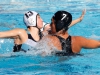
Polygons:
<instances>
[{"instance_id":1,"label":"black swimsuit on the back of the player in the black cap","mask_svg":"<svg viewBox=\"0 0 100 75\"><path fill-rule=\"evenodd\" d=\"M68 55L73 55L74 53L72 52L72 47L71 47L71 36L68 36L67 39L64 39L60 36L56 36L62 46L62 51L56 52L56 55L58 56L68 56Z\"/></svg>"}]
</instances>

